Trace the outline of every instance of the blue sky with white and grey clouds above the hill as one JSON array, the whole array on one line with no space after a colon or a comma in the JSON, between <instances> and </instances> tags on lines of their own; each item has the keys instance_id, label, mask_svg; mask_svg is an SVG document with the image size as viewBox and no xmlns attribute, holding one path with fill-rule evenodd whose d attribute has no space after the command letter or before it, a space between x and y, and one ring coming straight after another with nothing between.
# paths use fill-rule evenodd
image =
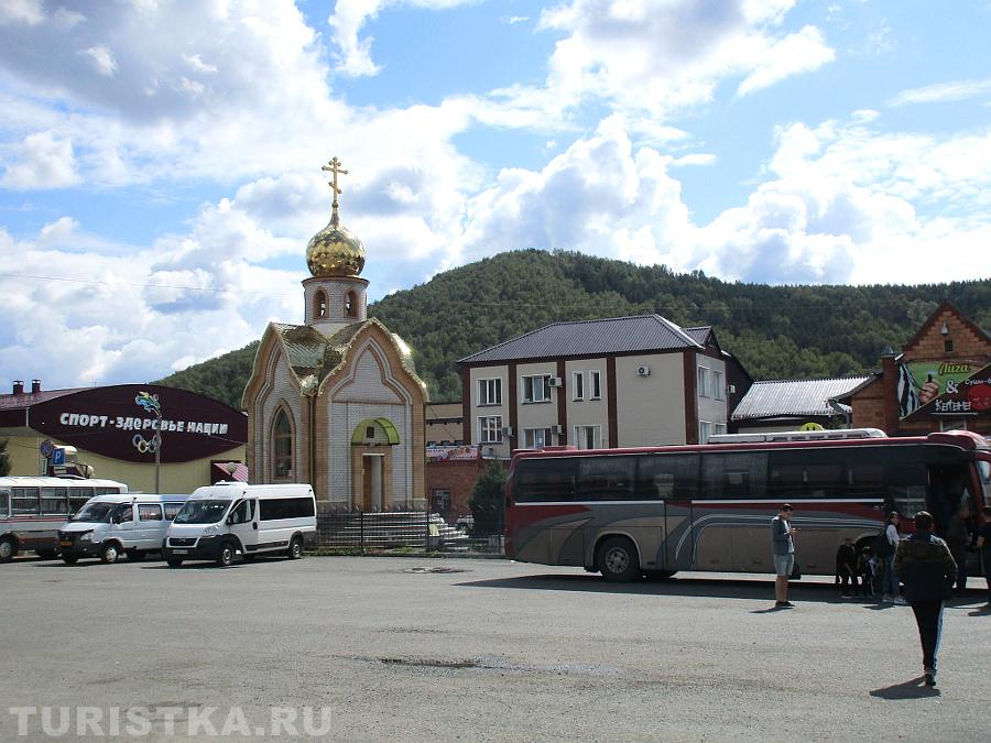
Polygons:
<instances>
[{"instance_id":1,"label":"blue sky with white and grey clouds above the hill","mask_svg":"<svg viewBox=\"0 0 991 743\"><path fill-rule=\"evenodd\" d=\"M141 382L518 248L991 277L991 2L8 0L0 380ZM466 301L468 301L466 298Z\"/></svg>"}]
</instances>

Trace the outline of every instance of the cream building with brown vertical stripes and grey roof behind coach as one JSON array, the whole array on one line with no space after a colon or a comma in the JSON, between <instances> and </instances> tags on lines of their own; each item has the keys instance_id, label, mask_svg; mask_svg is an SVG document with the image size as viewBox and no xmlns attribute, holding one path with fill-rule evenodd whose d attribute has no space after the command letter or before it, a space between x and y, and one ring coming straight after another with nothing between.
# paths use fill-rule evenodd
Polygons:
<instances>
[{"instance_id":1,"label":"cream building with brown vertical stripes and grey roof behind coach","mask_svg":"<svg viewBox=\"0 0 991 743\"><path fill-rule=\"evenodd\" d=\"M499 458L705 442L751 383L712 328L658 315L555 323L458 363L466 442Z\"/></svg>"}]
</instances>

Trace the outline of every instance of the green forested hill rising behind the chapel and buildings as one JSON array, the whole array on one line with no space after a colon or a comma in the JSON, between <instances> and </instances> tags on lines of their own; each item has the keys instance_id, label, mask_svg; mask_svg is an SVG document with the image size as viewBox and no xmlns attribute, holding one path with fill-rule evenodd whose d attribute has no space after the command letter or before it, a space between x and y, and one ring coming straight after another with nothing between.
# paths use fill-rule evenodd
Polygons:
<instances>
[{"instance_id":1,"label":"green forested hill rising behind the chapel and buildings","mask_svg":"<svg viewBox=\"0 0 991 743\"><path fill-rule=\"evenodd\" d=\"M755 380L853 374L879 367L943 299L991 328L991 281L919 286L766 286L580 253L523 250L438 274L369 306L414 349L432 400L459 400L456 361L549 323L656 313L711 325ZM262 328L259 328L259 336ZM257 343L162 384L240 405Z\"/></svg>"}]
</instances>

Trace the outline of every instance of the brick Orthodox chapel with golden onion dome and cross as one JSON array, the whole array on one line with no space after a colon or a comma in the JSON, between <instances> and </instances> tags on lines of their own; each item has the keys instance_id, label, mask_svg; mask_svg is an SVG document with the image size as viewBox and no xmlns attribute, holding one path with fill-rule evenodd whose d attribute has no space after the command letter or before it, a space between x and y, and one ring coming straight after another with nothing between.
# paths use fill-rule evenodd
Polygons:
<instances>
[{"instance_id":1,"label":"brick Orthodox chapel with golden onion dome and cross","mask_svg":"<svg viewBox=\"0 0 991 743\"><path fill-rule=\"evenodd\" d=\"M364 247L330 223L306 248L303 325L270 323L242 396L252 482L307 482L317 500L366 511L423 507L424 403L406 343L368 318Z\"/></svg>"}]
</instances>

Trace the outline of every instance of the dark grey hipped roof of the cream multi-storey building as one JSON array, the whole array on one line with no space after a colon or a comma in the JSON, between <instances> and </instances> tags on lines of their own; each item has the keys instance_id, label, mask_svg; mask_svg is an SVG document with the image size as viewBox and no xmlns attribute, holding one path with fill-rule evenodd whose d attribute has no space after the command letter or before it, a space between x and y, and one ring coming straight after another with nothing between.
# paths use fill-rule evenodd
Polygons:
<instances>
[{"instance_id":1,"label":"dark grey hipped roof of the cream multi-storey building","mask_svg":"<svg viewBox=\"0 0 991 743\"><path fill-rule=\"evenodd\" d=\"M683 348L701 348L701 343L660 315L638 315L554 323L465 357L458 363L671 351Z\"/></svg>"}]
</instances>

